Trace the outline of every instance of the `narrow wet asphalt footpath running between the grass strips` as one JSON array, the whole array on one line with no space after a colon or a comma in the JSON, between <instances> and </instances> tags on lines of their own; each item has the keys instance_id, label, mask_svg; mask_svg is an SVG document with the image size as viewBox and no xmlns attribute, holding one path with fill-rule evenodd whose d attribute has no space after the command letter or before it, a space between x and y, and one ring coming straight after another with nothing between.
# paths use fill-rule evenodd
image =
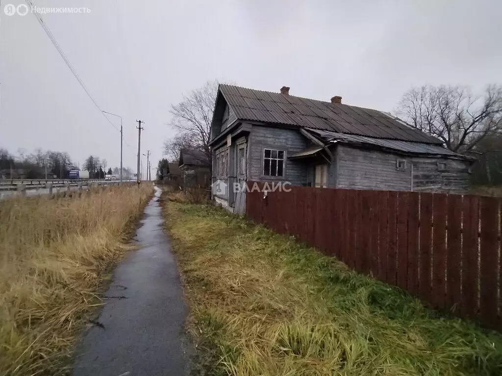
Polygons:
<instances>
[{"instance_id":1,"label":"narrow wet asphalt footpath running between the grass strips","mask_svg":"<svg viewBox=\"0 0 502 376\"><path fill-rule=\"evenodd\" d=\"M142 246L117 266L106 305L84 335L74 376L181 376L189 373L187 308L170 242L162 231L161 190L145 209Z\"/></svg>"}]
</instances>

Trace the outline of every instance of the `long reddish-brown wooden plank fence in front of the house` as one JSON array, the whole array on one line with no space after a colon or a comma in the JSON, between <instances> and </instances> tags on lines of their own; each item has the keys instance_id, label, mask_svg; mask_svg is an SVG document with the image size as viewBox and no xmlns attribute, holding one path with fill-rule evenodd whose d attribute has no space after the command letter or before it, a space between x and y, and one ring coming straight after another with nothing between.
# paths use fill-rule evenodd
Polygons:
<instances>
[{"instance_id":1,"label":"long reddish-brown wooden plank fence in front of the house","mask_svg":"<svg viewBox=\"0 0 502 376\"><path fill-rule=\"evenodd\" d=\"M431 307L502 330L498 198L291 187L265 199L248 192L246 214Z\"/></svg>"}]
</instances>

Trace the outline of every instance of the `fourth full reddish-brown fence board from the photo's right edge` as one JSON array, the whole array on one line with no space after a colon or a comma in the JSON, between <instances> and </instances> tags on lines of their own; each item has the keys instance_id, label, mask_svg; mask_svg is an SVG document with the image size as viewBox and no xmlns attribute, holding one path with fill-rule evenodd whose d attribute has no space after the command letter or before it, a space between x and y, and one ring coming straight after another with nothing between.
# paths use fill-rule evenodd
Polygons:
<instances>
[{"instance_id":1,"label":"fourth full reddish-brown fence board from the photo's right edge","mask_svg":"<svg viewBox=\"0 0 502 376\"><path fill-rule=\"evenodd\" d=\"M446 195L434 194L432 209L432 304L444 308L446 292Z\"/></svg>"}]
</instances>

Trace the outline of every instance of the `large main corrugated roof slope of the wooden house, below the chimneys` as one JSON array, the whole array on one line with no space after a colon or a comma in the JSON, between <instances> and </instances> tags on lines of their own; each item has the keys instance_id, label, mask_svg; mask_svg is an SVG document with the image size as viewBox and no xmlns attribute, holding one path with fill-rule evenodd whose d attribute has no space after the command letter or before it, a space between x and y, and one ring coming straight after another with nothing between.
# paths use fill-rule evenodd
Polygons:
<instances>
[{"instance_id":1,"label":"large main corrugated roof slope of the wooden house, below the chimneys","mask_svg":"<svg viewBox=\"0 0 502 376\"><path fill-rule=\"evenodd\" d=\"M296 125L374 138L442 144L442 141L391 115L346 104L332 104L268 91L219 86L240 120Z\"/></svg>"}]
</instances>

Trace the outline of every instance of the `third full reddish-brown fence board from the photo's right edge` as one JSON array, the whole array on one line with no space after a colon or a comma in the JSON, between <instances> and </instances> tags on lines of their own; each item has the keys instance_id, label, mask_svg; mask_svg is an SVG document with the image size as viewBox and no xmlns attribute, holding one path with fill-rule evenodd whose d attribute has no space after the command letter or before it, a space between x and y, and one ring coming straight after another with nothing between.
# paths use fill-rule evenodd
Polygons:
<instances>
[{"instance_id":1,"label":"third full reddish-brown fence board from the photo's right edge","mask_svg":"<svg viewBox=\"0 0 502 376\"><path fill-rule=\"evenodd\" d=\"M446 308L455 312L459 309L460 295L460 260L462 257L462 196L448 196L448 231L446 250Z\"/></svg>"}]
</instances>

